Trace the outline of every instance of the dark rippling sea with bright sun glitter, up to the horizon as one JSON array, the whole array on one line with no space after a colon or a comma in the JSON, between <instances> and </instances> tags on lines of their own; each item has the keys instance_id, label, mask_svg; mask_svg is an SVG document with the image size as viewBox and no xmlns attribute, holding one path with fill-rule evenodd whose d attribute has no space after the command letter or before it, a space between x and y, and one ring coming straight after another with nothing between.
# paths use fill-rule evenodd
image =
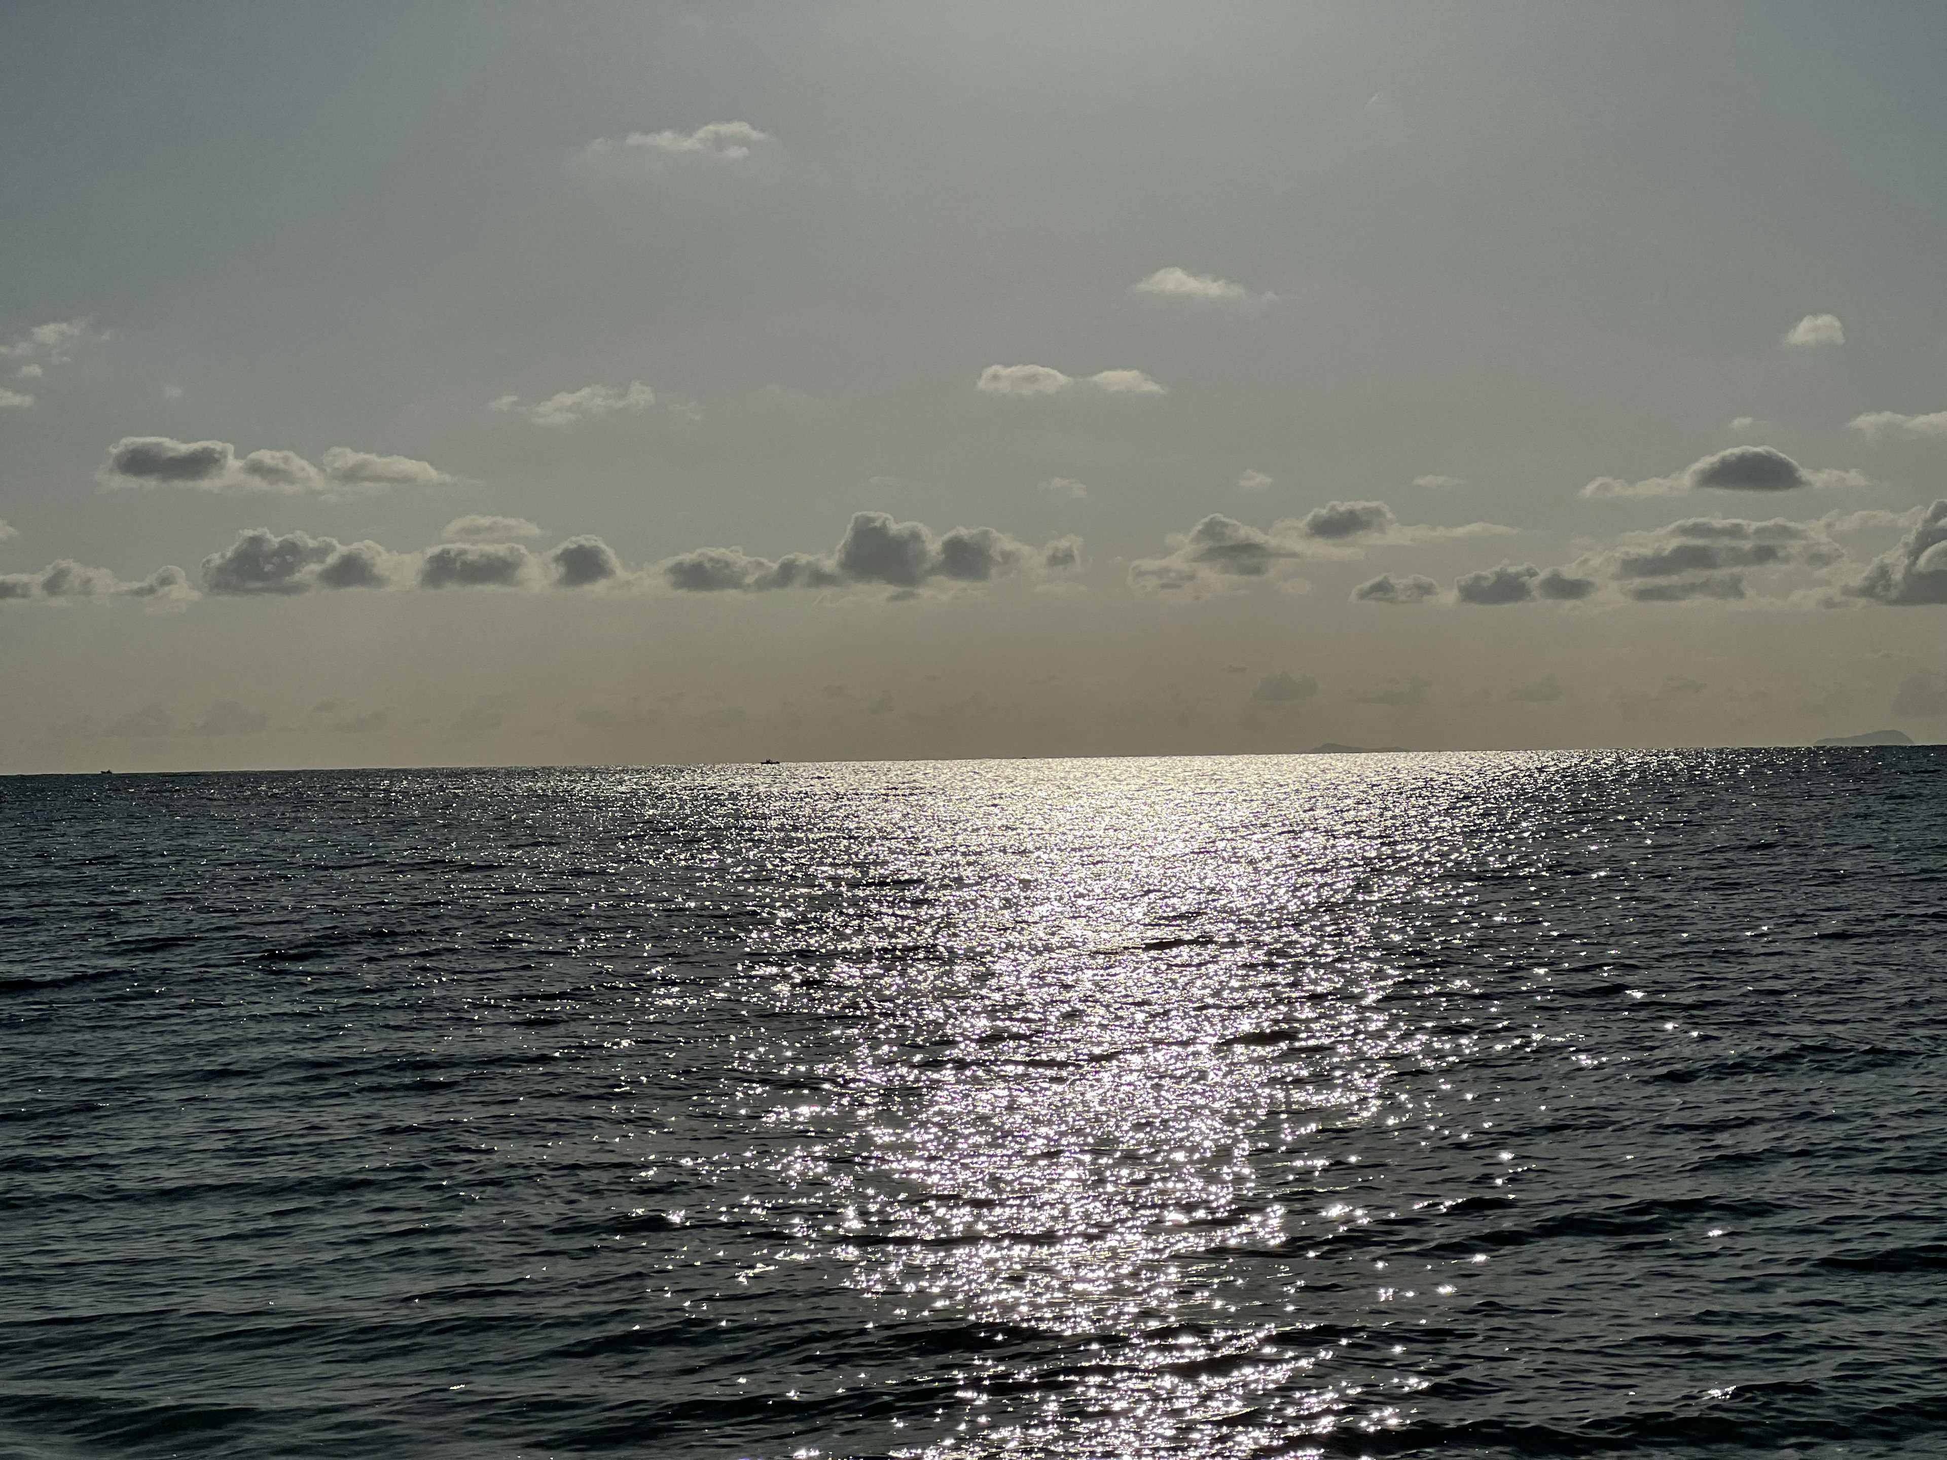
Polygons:
<instances>
[{"instance_id":1,"label":"dark rippling sea with bright sun glitter, up to the horizon","mask_svg":"<svg viewBox=\"0 0 1947 1460\"><path fill-rule=\"evenodd\" d=\"M1947 1454L1947 751L0 781L0 1454Z\"/></svg>"}]
</instances>

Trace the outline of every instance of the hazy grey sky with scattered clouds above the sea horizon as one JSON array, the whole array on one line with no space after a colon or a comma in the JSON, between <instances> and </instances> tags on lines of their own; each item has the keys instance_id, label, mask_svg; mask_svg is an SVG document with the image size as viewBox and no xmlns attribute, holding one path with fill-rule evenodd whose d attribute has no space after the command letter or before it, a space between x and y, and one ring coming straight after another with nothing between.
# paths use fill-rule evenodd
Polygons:
<instances>
[{"instance_id":1,"label":"hazy grey sky with scattered clouds above the sea horizon","mask_svg":"<svg viewBox=\"0 0 1947 1460\"><path fill-rule=\"evenodd\" d=\"M0 25L0 771L1947 740L1937 4Z\"/></svg>"}]
</instances>

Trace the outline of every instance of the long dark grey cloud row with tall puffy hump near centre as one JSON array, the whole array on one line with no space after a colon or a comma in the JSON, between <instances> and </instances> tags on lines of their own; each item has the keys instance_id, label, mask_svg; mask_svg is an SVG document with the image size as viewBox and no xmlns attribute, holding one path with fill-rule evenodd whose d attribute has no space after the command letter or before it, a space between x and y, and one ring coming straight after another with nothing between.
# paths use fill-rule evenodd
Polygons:
<instances>
[{"instance_id":1,"label":"long dark grey cloud row with tall puffy hump near centre","mask_svg":"<svg viewBox=\"0 0 1947 1460\"><path fill-rule=\"evenodd\" d=\"M680 592L767 592L775 588L884 586L913 592L935 580L993 582L1016 572L1065 572L1081 566L1081 539L1059 537L1042 549L993 528L954 528L935 535L921 522L888 512L855 512L827 555L789 553L763 559L740 547L703 547L658 565Z\"/></svg>"}]
</instances>

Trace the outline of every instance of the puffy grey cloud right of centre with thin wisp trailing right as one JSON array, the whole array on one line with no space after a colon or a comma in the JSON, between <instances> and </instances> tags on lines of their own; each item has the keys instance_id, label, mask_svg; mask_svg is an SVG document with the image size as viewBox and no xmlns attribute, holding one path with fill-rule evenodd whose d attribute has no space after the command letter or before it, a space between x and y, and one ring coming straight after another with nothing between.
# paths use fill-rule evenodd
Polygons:
<instances>
[{"instance_id":1,"label":"puffy grey cloud right of centre with thin wisp trailing right","mask_svg":"<svg viewBox=\"0 0 1947 1460\"><path fill-rule=\"evenodd\" d=\"M1449 537L1511 533L1493 522L1458 528L1400 522L1384 502L1326 502L1303 518L1283 518L1266 531L1211 512L1195 528L1170 537L1166 557L1139 559L1129 584L1155 592L1209 592L1231 578L1283 576L1303 559L1361 557L1369 547L1404 547Z\"/></svg>"}]
</instances>

